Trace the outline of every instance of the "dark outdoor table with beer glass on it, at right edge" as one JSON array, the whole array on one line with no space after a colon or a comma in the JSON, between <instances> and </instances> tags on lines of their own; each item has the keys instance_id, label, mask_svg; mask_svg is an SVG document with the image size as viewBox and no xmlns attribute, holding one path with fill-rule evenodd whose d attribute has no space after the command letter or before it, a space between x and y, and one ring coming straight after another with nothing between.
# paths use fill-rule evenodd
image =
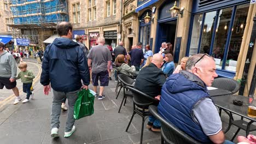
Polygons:
<instances>
[{"instance_id":1,"label":"dark outdoor table with beer glass on it, at right edge","mask_svg":"<svg viewBox=\"0 0 256 144\"><path fill-rule=\"evenodd\" d=\"M229 126L225 130L225 133L230 129L232 124L236 125L236 127L240 129L245 130L246 136L249 134L249 131L256 130L256 126L251 125L253 122L256 122L256 118L248 116L248 97L245 97L242 95L223 95L219 97L212 97L212 100L214 102L214 105L223 109L229 115ZM241 100L243 101L243 105L242 106L234 105L233 100ZM235 113L238 116L241 116L241 119L232 121L232 118L231 118L232 114L230 112ZM248 119L250 122L244 121L243 118ZM235 138L236 134L234 135L232 140Z\"/></svg>"}]
</instances>

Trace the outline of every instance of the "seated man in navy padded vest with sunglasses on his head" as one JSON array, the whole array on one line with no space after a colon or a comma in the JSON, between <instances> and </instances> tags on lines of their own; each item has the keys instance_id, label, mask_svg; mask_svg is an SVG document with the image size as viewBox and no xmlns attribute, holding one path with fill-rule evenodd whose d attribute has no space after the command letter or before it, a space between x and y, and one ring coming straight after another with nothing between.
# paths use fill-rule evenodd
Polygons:
<instances>
[{"instance_id":1,"label":"seated man in navy padded vest with sunglasses on his head","mask_svg":"<svg viewBox=\"0 0 256 144\"><path fill-rule=\"evenodd\" d=\"M159 114L202 143L232 143L225 141L222 121L207 90L218 76L214 59L200 53L189 57L185 68L162 86Z\"/></svg>"}]
</instances>

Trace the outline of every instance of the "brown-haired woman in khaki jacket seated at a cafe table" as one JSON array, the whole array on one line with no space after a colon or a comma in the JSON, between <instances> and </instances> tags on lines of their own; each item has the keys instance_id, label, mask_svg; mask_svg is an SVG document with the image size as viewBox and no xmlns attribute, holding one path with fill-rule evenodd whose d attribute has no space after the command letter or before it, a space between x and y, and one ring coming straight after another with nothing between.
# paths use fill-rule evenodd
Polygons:
<instances>
[{"instance_id":1,"label":"brown-haired woman in khaki jacket seated at a cafe table","mask_svg":"<svg viewBox=\"0 0 256 144\"><path fill-rule=\"evenodd\" d=\"M131 77L133 77L136 71L135 66L132 65L130 67L126 64L124 55L118 55L117 58L115 58L115 70Z\"/></svg>"}]
</instances>

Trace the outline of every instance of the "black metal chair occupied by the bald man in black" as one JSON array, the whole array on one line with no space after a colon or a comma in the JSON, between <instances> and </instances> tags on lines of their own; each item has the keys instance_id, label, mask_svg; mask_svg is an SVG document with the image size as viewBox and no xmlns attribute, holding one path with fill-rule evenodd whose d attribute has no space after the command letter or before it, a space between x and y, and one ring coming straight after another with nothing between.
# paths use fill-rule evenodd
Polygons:
<instances>
[{"instance_id":1,"label":"black metal chair occupied by the bald man in black","mask_svg":"<svg viewBox=\"0 0 256 144\"><path fill-rule=\"evenodd\" d=\"M131 89L131 92L133 94L133 113L132 113L131 120L127 125L127 128L125 131L128 131L130 124L132 122L133 116L137 113L139 116L142 117L141 142L140 142L142 143L145 117L152 116L152 114L146 110L148 109L149 105L158 104L159 101L153 97L150 97L148 94L139 91L136 88L133 88L130 86L126 86L126 87Z\"/></svg>"}]
</instances>

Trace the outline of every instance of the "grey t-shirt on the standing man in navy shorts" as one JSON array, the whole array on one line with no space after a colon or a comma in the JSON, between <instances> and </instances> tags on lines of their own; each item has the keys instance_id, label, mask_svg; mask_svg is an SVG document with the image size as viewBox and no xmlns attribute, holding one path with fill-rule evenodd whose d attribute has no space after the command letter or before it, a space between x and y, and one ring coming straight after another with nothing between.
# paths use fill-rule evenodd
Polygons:
<instances>
[{"instance_id":1,"label":"grey t-shirt on the standing man in navy shorts","mask_svg":"<svg viewBox=\"0 0 256 144\"><path fill-rule=\"evenodd\" d=\"M106 46L96 45L90 50L88 59L92 61L92 73L97 74L108 69L108 61L112 61L112 56Z\"/></svg>"}]
</instances>

